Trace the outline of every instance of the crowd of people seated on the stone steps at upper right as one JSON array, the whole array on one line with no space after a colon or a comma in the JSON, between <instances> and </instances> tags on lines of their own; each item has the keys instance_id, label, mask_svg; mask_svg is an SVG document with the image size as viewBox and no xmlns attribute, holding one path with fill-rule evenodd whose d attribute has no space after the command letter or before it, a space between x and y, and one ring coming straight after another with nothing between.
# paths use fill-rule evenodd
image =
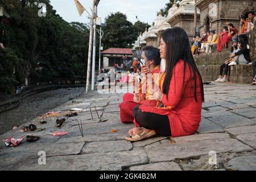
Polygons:
<instances>
[{"instance_id":1,"label":"crowd of people seated on the stone steps at upper right","mask_svg":"<svg viewBox=\"0 0 256 182\"><path fill-rule=\"evenodd\" d=\"M232 42L230 55L224 64L220 66L220 75L216 82L226 82L229 72L229 67L237 64L251 64L253 67L253 83L256 85L256 61L253 63L250 58L250 46L247 33L254 30L256 24L255 12L250 11L248 18L242 16L241 30L238 32L237 28L232 23L223 27L223 31L216 34L215 30L211 30L203 33L203 37L200 35L193 37L191 52L193 56L196 55L208 55L215 52L221 52L222 47L228 48L228 43ZM214 51L216 50L216 51ZM224 77L222 77L224 76Z\"/></svg>"}]
</instances>

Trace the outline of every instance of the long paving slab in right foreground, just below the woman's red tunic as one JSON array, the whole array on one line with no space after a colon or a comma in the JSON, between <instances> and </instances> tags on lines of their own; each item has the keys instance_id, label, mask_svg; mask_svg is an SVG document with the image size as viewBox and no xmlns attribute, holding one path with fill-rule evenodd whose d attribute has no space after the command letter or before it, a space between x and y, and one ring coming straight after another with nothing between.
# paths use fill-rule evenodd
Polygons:
<instances>
[{"instance_id":1,"label":"long paving slab in right foreground, just below the woman's red tunic","mask_svg":"<svg viewBox=\"0 0 256 182\"><path fill-rule=\"evenodd\" d=\"M171 144L170 141L158 142L145 147L151 162L166 162L174 159L192 158L200 155L208 155L210 151L242 152L252 151L236 139L200 140Z\"/></svg>"}]
</instances>

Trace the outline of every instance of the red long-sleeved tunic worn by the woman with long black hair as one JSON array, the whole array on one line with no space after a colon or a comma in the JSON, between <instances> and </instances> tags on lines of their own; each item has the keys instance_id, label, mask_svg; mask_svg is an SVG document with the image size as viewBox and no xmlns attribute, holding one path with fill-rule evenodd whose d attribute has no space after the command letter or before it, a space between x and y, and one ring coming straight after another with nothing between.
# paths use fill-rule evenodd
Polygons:
<instances>
[{"instance_id":1,"label":"red long-sleeved tunic worn by the woman with long black hair","mask_svg":"<svg viewBox=\"0 0 256 182\"><path fill-rule=\"evenodd\" d=\"M175 65L170 89L167 95L164 94L162 102L166 107L152 107L147 105L141 105L139 108L143 112L156 113L160 115L167 115L170 121L172 137L180 137L185 135L191 135L197 131L201 121L201 88L199 76L196 76L197 88L196 95L197 101L193 96L193 88L191 86L194 81L189 80L189 66L186 65L185 80L184 80L184 97L183 97L183 74L184 74L184 61L180 60ZM192 78L193 72L191 71ZM160 121L159 121L160 122Z\"/></svg>"}]
</instances>

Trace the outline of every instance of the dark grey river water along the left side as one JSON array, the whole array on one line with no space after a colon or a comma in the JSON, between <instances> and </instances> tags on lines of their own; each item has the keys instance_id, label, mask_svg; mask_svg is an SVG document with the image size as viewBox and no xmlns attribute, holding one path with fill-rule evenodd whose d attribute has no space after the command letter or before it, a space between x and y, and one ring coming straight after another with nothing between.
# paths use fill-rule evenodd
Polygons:
<instances>
[{"instance_id":1,"label":"dark grey river water along the left side","mask_svg":"<svg viewBox=\"0 0 256 182\"><path fill-rule=\"evenodd\" d=\"M13 129L16 125L23 125L31 119L51 111L69 101L69 98L79 96L83 91L84 88L57 89L25 98L15 109L0 113L0 135Z\"/></svg>"}]
</instances>

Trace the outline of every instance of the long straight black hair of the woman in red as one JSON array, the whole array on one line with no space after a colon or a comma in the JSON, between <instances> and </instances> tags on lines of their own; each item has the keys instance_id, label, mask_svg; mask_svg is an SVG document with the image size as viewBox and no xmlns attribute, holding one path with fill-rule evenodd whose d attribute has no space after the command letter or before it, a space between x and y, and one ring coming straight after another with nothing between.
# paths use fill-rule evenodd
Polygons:
<instances>
[{"instance_id":1,"label":"long straight black hair of the woman in red","mask_svg":"<svg viewBox=\"0 0 256 182\"><path fill-rule=\"evenodd\" d=\"M196 95L196 75L199 76L200 79L200 87L201 87L201 98L204 101L204 86L201 75L199 70L196 67L195 60L193 59L191 47L189 45L189 39L187 33L180 27L168 28L165 30L161 38L163 39L164 43L166 43L166 79L164 79L163 83L163 93L167 94L168 99L168 92L171 84L172 78L172 71L174 70L175 65L179 62L180 59L184 60L184 76L183 76L183 94L184 94L184 80L185 80L185 72L186 72L186 65L189 66L190 72L190 80L192 80L193 72L193 92L195 96L195 100L197 101ZM192 89L192 85L191 85Z\"/></svg>"}]
</instances>

